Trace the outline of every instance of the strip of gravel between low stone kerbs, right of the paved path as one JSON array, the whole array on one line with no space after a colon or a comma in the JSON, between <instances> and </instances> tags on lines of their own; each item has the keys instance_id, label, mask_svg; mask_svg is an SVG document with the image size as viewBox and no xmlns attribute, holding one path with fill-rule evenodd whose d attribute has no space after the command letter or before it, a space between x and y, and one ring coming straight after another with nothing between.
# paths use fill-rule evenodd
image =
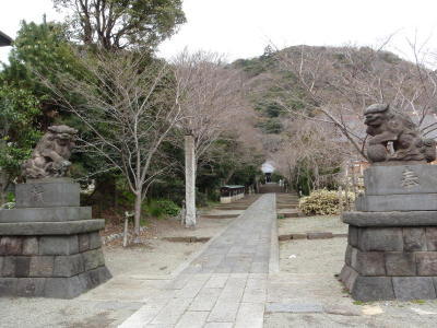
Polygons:
<instances>
[{"instance_id":1,"label":"strip of gravel between low stone kerbs, right of the paved path","mask_svg":"<svg viewBox=\"0 0 437 328\"><path fill-rule=\"evenodd\" d=\"M277 227L280 235L308 232L347 233L347 224L344 224L339 215L280 219Z\"/></svg>"}]
</instances>

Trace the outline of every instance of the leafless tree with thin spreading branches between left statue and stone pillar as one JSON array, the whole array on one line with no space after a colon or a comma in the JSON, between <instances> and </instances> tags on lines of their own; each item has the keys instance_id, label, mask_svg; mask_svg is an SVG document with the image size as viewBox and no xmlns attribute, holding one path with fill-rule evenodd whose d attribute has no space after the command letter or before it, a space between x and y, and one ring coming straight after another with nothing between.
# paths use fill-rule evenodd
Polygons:
<instances>
[{"instance_id":1,"label":"leafless tree with thin spreading branches between left statue and stone pillar","mask_svg":"<svg viewBox=\"0 0 437 328\"><path fill-rule=\"evenodd\" d=\"M106 160L126 177L134 195L134 231L140 233L141 206L155 176L160 147L182 117L168 66L145 65L134 52L82 57L82 79L60 75L61 86L48 86L87 128L82 150ZM69 102L64 91L81 99Z\"/></svg>"}]
</instances>

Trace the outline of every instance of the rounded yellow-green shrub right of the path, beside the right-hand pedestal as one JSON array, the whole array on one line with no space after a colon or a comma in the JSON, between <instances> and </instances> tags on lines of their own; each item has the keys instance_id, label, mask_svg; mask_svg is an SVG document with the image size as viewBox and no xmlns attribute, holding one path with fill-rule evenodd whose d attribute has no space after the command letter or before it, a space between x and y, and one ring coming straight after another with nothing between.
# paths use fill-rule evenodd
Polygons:
<instances>
[{"instance_id":1,"label":"rounded yellow-green shrub right of the path, beside the right-hand pedestal","mask_svg":"<svg viewBox=\"0 0 437 328\"><path fill-rule=\"evenodd\" d=\"M345 199L343 192L343 201ZM349 201L354 201L354 195L349 192ZM315 190L309 196L303 197L299 200L299 209L306 215L332 215L339 214L340 201L339 192L326 189Z\"/></svg>"}]
</instances>

